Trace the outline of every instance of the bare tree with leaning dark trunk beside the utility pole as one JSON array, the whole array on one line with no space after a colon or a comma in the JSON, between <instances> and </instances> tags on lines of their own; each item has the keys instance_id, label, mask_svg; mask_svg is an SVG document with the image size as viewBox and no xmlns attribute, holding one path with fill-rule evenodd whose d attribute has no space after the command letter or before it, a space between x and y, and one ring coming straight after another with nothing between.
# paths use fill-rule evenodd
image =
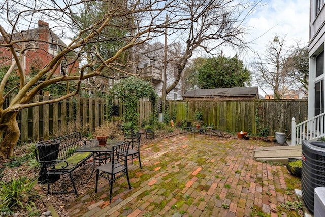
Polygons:
<instances>
[{"instance_id":1,"label":"bare tree with leaning dark trunk beside the utility pole","mask_svg":"<svg viewBox=\"0 0 325 217\"><path fill-rule=\"evenodd\" d=\"M175 59L177 67L175 81L166 88L165 96L173 90L182 78L183 70L196 51L216 55L220 48L230 46L233 49L245 49L245 19L259 6L261 1L182 1L178 12L184 14L183 19L174 21L176 16L169 16L168 26L184 46L182 55Z\"/></svg>"}]
</instances>

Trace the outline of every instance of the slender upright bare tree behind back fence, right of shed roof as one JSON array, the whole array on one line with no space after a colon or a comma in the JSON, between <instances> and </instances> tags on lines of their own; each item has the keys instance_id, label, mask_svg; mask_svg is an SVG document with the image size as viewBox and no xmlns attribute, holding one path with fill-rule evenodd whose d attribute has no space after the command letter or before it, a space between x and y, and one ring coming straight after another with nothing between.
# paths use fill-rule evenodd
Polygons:
<instances>
[{"instance_id":1,"label":"slender upright bare tree behind back fence, right of shed roof","mask_svg":"<svg viewBox=\"0 0 325 217\"><path fill-rule=\"evenodd\" d=\"M290 49L285 44L285 36L276 35L267 45L264 54L256 52L257 60L253 63L256 81L262 90L271 88L275 99L281 99L287 88L294 83L285 64Z\"/></svg>"}]
</instances>

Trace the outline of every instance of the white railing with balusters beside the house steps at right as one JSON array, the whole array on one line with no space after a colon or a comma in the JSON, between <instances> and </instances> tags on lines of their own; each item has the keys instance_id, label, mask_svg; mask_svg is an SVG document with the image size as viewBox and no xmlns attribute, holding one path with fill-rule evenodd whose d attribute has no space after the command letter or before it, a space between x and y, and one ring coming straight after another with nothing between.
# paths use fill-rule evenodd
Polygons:
<instances>
[{"instance_id":1,"label":"white railing with balusters beside the house steps at right","mask_svg":"<svg viewBox=\"0 0 325 217\"><path fill-rule=\"evenodd\" d=\"M302 140L315 140L325 136L325 113L312 117L296 125L296 119L291 120L291 144L301 145Z\"/></svg>"}]
</instances>

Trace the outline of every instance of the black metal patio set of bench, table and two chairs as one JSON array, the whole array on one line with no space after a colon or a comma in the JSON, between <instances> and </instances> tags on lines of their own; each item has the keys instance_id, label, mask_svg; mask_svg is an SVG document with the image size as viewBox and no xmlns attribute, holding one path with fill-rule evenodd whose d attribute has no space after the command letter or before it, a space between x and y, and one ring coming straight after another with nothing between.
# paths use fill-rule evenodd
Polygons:
<instances>
[{"instance_id":1,"label":"black metal patio set of bench, table and two chairs","mask_svg":"<svg viewBox=\"0 0 325 217\"><path fill-rule=\"evenodd\" d=\"M79 132L69 134L50 141L42 141L36 145L35 156L41 163L39 183L47 184L47 194L50 185L57 182L60 176L69 174L73 185L72 191L51 192L53 194L75 193L78 196L75 184L75 171L85 169L85 164L91 163L92 170L88 182L94 172L96 163L96 187L98 191L99 176L110 183L110 202L112 200L113 183L116 179L126 175L128 187L131 184L128 177L127 162L138 158L140 168L140 132L133 132L131 141L109 140L107 145L99 146L97 140L83 140ZM67 181L62 178L62 182Z\"/></svg>"}]
</instances>

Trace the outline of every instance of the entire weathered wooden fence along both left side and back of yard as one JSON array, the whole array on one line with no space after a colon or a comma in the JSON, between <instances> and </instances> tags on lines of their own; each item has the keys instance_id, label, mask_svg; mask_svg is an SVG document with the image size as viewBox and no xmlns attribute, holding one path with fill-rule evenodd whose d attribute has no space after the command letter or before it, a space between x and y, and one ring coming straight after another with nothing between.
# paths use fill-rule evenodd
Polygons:
<instances>
[{"instance_id":1,"label":"entire weathered wooden fence along both left side and back of yard","mask_svg":"<svg viewBox=\"0 0 325 217\"><path fill-rule=\"evenodd\" d=\"M36 96L34 102L48 100L49 96ZM9 105L5 102L4 108ZM64 133L91 132L110 116L109 107L114 103L123 115L118 101L100 98L72 97L58 103L26 108L17 115L21 142L39 141ZM307 100L238 100L238 101L168 101L170 117L176 114L175 125L184 120L194 120L197 111L203 114L205 125L230 132L247 131L258 134L269 128L275 132L291 134L291 119L300 123L307 119ZM139 102L139 124L148 121L152 114L149 101Z\"/></svg>"}]
</instances>

